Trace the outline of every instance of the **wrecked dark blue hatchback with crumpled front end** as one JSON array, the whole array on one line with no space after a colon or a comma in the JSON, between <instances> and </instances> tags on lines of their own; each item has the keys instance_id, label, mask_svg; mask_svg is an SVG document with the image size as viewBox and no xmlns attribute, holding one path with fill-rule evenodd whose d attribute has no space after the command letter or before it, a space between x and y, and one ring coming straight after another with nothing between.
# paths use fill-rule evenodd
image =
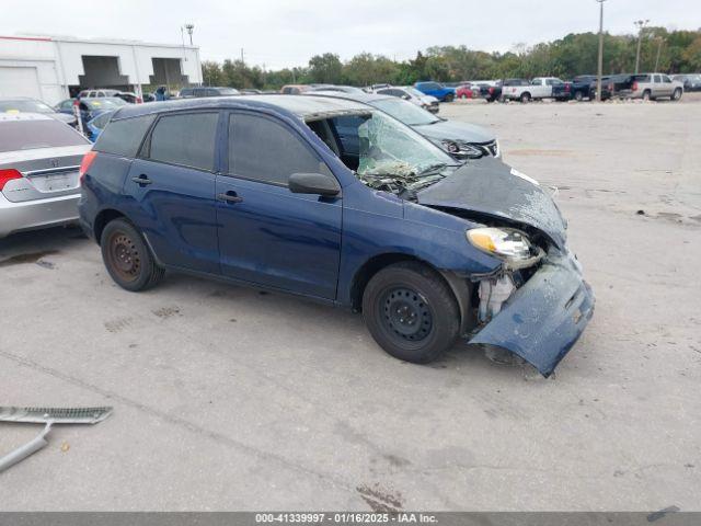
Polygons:
<instances>
[{"instance_id":1,"label":"wrecked dark blue hatchback with crumpled front end","mask_svg":"<svg viewBox=\"0 0 701 526\"><path fill-rule=\"evenodd\" d=\"M594 310L551 196L456 160L371 106L256 95L116 112L81 165L80 218L127 290L168 271L363 311L398 358L462 338L548 376Z\"/></svg>"}]
</instances>

